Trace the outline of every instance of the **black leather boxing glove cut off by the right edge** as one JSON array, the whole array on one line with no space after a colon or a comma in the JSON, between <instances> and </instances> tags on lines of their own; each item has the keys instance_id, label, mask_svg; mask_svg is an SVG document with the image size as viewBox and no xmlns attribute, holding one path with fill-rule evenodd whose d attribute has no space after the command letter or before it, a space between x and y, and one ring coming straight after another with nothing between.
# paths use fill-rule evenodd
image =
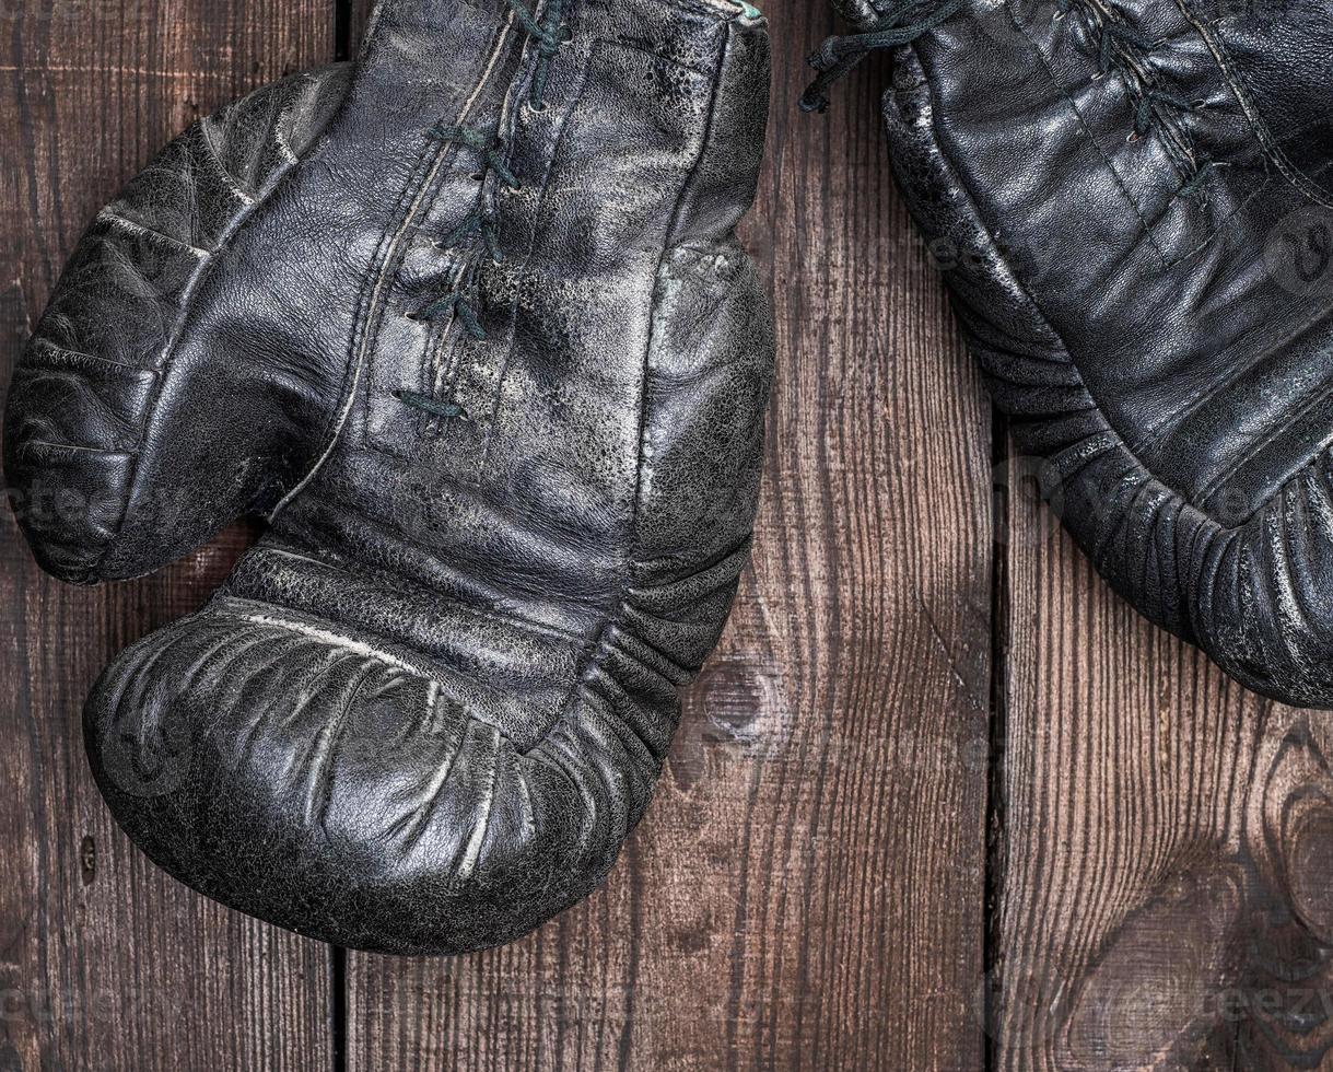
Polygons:
<instances>
[{"instance_id":1,"label":"black leather boxing glove cut off by the right edge","mask_svg":"<svg viewBox=\"0 0 1333 1072\"><path fill-rule=\"evenodd\" d=\"M902 195L1064 524L1144 615L1333 707L1333 9L845 0Z\"/></svg>"}]
</instances>

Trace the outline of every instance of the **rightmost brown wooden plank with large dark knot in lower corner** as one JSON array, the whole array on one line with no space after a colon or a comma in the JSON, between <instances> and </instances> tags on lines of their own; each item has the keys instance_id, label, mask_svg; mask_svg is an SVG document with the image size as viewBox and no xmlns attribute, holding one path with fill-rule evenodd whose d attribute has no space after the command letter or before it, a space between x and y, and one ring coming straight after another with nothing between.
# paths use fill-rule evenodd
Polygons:
<instances>
[{"instance_id":1,"label":"rightmost brown wooden plank with large dark knot in lower corner","mask_svg":"<svg viewBox=\"0 0 1333 1072\"><path fill-rule=\"evenodd\" d=\"M1333 723L1149 625L1034 503L1009 512L993 1067L1333 1068Z\"/></svg>"}]
</instances>

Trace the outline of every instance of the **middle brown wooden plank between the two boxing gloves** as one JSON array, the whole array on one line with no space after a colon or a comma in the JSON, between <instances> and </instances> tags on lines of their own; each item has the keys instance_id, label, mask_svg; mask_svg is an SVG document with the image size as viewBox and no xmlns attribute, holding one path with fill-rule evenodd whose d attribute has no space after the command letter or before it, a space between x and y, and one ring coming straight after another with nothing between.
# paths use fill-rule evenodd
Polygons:
<instances>
[{"instance_id":1,"label":"middle brown wooden plank between the two boxing gloves","mask_svg":"<svg viewBox=\"0 0 1333 1072\"><path fill-rule=\"evenodd\" d=\"M778 309L753 571L611 876L535 936L348 959L352 1069L972 1069L990 688L989 408L890 191L872 65L768 5Z\"/></svg>"}]
</instances>

